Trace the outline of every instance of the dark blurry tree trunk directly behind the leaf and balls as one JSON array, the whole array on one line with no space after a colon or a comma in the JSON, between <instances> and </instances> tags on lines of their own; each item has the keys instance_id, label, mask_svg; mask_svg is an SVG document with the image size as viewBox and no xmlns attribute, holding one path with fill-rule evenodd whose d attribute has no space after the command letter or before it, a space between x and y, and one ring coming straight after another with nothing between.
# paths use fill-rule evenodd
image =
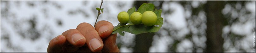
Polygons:
<instances>
[{"instance_id":1,"label":"dark blurry tree trunk directly behind the leaf and balls","mask_svg":"<svg viewBox=\"0 0 256 53\"><path fill-rule=\"evenodd\" d=\"M136 1L135 8L138 9L143 3L148 3L147 1ZM135 46L133 47L133 52L149 52L149 47L152 45L152 38L154 33L143 33L135 36Z\"/></svg>"}]
</instances>

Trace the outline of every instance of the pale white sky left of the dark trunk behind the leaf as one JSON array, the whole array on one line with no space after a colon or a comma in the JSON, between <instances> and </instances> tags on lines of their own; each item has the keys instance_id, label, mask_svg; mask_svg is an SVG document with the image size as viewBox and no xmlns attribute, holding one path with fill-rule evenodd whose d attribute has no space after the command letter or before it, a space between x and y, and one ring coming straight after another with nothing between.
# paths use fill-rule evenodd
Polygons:
<instances>
[{"instance_id":1,"label":"pale white sky left of the dark trunk behind the leaf","mask_svg":"<svg viewBox=\"0 0 256 53\"><path fill-rule=\"evenodd\" d=\"M29 7L27 2L33 2L35 7ZM8 48L5 44L6 41L1 41L1 51L4 52L47 52L47 47L50 40L46 38L54 38L59 34L62 34L64 31L68 29L76 29L76 26L82 22L87 22L91 25L94 25L97 16L97 10L95 8L99 8L101 1L86 1L86 6L83 5L82 1L48 1L49 4L43 4L39 1L21 1L19 7L15 6L16 2L10 2L11 13L16 14L16 18L13 19L5 19L1 18L1 32L2 34L8 33L10 34L10 42L13 46L17 46L22 48L22 50L13 50ZM102 8L104 8L104 13L99 16L98 21L107 20L113 23L114 26L118 24L117 14L121 11L127 11L131 8L131 4L133 1L103 1ZM57 3L61 5L61 9L55 8L52 3ZM124 4L123 8L119 8L118 4ZM5 7L5 5L1 5L1 8ZM48 18L46 18L44 13L42 13L42 9L46 8L48 11L46 12ZM82 9L85 10L90 16L88 18L84 18L84 16L80 14L76 15L68 15L69 10L77 10ZM118 10L117 10L118 9ZM95 14L94 14L95 13ZM36 14L37 17L37 26L36 29L42 29L45 27L45 24L50 26L52 29L53 35L47 35L47 33L42 33L38 40L32 41L30 39L23 39L20 35L18 35L13 29L13 24L11 22L25 21L27 19L31 19L31 16ZM106 18L111 17L111 18ZM56 19L60 19L63 22L63 26L59 27L56 23ZM27 29L29 24L21 24L22 29ZM2 36L1 34L1 36ZM126 36L124 36L126 37ZM129 38L129 37L128 37ZM3 49L5 48L5 49ZM122 50L121 50L122 52ZM128 51L129 52L129 51ZM131 51L130 51L131 52Z\"/></svg>"}]
</instances>

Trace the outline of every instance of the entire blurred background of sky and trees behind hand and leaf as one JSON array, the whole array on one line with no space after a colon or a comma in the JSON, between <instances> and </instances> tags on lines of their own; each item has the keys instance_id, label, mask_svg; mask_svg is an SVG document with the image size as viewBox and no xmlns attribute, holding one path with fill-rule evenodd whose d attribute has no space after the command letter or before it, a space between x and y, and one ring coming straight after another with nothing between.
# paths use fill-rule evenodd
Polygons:
<instances>
[{"instance_id":1,"label":"entire blurred background of sky and trees behind hand and leaf","mask_svg":"<svg viewBox=\"0 0 256 53\"><path fill-rule=\"evenodd\" d=\"M156 33L118 34L120 52L253 52L255 1L103 1L103 14L142 3L162 9ZM47 52L49 41L82 22L94 25L101 1L1 1L1 52ZM137 10L137 9L136 9Z\"/></svg>"}]
</instances>

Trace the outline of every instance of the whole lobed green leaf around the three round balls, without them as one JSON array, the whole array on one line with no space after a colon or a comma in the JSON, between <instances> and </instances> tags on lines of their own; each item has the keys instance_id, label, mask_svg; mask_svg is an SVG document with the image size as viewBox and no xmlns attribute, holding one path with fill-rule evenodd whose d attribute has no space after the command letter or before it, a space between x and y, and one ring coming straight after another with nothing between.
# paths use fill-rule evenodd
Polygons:
<instances>
[{"instance_id":1,"label":"whole lobed green leaf around the three round balls, without them","mask_svg":"<svg viewBox=\"0 0 256 53\"><path fill-rule=\"evenodd\" d=\"M153 11L155 6L152 3L143 3L137 12L144 13L145 11ZM130 8L127 13L131 16L131 13L136 12L135 7ZM144 24L132 24L131 20L127 23L121 24L119 23L114 27L112 34L119 33L120 35L125 35L125 32L129 32L131 34L141 34L141 33L149 33L149 32L157 32L163 24L163 18L161 17L162 9L153 11L157 16L157 21L153 26L145 26Z\"/></svg>"}]
</instances>

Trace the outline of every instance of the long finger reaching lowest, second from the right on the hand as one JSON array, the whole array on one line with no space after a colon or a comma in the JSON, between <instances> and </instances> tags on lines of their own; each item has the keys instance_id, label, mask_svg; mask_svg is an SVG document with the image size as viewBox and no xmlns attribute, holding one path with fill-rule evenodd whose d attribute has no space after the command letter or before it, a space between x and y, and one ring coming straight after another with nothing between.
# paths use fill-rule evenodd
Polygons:
<instances>
[{"instance_id":1,"label":"long finger reaching lowest, second from the right on the hand","mask_svg":"<svg viewBox=\"0 0 256 53\"><path fill-rule=\"evenodd\" d=\"M99 52L103 48L103 41L91 24L81 23L76 27L86 38L86 44L93 52Z\"/></svg>"}]
</instances>

